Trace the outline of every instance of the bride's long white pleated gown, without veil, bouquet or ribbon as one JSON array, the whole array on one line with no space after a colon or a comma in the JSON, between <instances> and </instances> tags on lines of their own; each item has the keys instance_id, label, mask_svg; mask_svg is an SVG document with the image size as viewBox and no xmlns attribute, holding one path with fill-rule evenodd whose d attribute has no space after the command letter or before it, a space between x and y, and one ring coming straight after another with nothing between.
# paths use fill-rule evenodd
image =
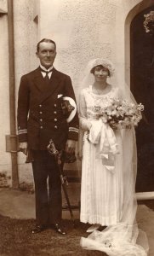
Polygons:
<instances>
[{"instance_id":1,"label":"bride's long white pleated gown, without veil, bouquet or ribbon","mask_svg":"<svg viewBox=\"0 0 154 256\"><path fill-rule=\"evenodd\" d=\"M107 107L111 98L118 98L118 90L112 89L106 95L95 95L92 87L84 89L80 102L80 121L83 128L89 121L95 120L95 108ZM85 127L86 128L86 127ZM117 224L123 207L123 170L121 131L115 131L118 154L115 155L115 169L109 171L100 158L100 142L88 141L88 131L83 137L83 165L81 190L81 215L83 223Z\"/></svg>"}]
</instances>

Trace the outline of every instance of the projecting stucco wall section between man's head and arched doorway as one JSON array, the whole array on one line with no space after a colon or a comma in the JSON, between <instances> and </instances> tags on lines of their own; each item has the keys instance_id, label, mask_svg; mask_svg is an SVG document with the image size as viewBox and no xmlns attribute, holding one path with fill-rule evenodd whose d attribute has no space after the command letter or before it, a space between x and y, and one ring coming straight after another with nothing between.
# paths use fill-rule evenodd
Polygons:
<instances>
[{"instance_id":1,"label":"projecting stucco wall section between man's head and arched doorway","mask_svg":"<svg viewBox=\"0 0 154 256\"><path fill-rule=\"evenodd\" d=\"M39 38L53 38L57 43L54 65L71 75L77 96L86 64L100 56L114 62L114 81L124 83L125 20L140 2L40 0Z\"/></svg>"}]
</instances>

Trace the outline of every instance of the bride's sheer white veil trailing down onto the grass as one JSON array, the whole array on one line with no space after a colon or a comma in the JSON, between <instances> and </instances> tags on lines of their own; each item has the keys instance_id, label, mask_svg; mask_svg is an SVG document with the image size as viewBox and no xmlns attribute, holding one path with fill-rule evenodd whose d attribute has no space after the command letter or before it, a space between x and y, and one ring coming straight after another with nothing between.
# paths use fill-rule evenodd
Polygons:
<instances>
[{"instance_id":1,"label":"bride's sheer white veil trailing down onto the grass","mask_svg":"<svg viewBox=\"0 0 154 256\"><path fill-rule=\"evenodd\" d=\"M90 73L93 67L107 67L113 77L114 66L106 59L94 59L88 62L85 77L81 83L82 89L94 83L94 75ZM134 96L127 84L112 84L121 91L121 96L129 102L135 102ZM80 131L82 145L82 130ZM135 197L135 181L137 173L137 154L135 131L123 129L123 209L120 223L109 226L103 231L95 230L87 238L81 238L81 246L88 250L99 250L109 256L145 256L148 253L148 242L145 233L139 229L136 222L137 201ZM80 146L79 146L80 148Z\"/></svg>"}]
</instances>

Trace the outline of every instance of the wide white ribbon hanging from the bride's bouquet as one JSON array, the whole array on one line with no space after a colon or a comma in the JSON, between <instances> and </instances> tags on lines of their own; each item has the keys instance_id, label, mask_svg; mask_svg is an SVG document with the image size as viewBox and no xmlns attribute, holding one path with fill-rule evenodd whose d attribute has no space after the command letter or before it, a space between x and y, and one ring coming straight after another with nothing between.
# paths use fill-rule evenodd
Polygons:
<instances>
[{"instance_id":1,"label":"wide white ribbon hanging from the bride's bouquet","mask_svg":"<svg viewBox=\"0 0 154 256\"><path fill-rule=\"evenodd\" d=\"M92 120L88 141L94 145L100 143L100 158L106 169L114 173L114 155L118 154L117 139L111 126L101 119Z\"/></svg>"}]
</instances>

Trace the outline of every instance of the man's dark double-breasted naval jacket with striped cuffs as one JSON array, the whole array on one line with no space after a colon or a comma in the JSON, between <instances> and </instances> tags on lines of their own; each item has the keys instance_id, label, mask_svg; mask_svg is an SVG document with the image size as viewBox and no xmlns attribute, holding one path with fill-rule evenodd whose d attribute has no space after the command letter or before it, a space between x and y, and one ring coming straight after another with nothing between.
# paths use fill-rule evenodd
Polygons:
<instances>
[{"instance_id":1,"label":"man's dark double-breasted naval jacket with striped cuffs","mask_svg":"<svg viewBox=\"0 0 154 256\"><path fill-rule=\"evenodd\" d=\"M71 119L63 113L64 99L74 106ZM50 139L63 149L67 139L77 140L77 105L70 77L54 68L47 85L40 67L22 76L17 119L19 142L27 142L30 149L47 149Z\"/></svg>"}]
</instances>

